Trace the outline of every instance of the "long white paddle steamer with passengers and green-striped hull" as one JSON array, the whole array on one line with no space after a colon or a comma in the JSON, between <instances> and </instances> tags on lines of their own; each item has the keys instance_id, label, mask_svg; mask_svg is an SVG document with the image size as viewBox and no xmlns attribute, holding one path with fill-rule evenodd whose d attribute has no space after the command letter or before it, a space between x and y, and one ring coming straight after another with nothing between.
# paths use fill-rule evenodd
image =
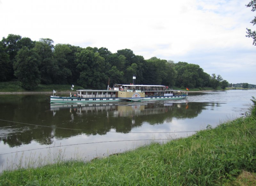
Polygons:
<instances>
[{"instance_id":1,"label":"long white paddle steamer with passengers and green-striped hull","mask_svg":"<svg viewBox=\"0 0 256 186\"><path fill-rule=\"evenodd\" d=\"M134 78L134 77L133 77ZM77 90L72 94L74 86L71 87L69 97L50 96L51 103L96 103L96 102L118 102L118 101L144 101L183 99L188 93L181 90L172 90L162 85L122 85L115 84L107 90Z\"/></svg>"}]
</instances>

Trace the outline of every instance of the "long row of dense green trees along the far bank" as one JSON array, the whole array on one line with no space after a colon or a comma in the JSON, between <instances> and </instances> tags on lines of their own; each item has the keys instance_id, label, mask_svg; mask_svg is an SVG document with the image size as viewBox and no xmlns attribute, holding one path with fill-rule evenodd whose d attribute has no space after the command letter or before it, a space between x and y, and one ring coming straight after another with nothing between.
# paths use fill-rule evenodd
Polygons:
<instances>
[{"instance_id":1,"label":"long row of dense green trees along the far bank","mask_svg":"<svg viewBox=\"0 0 256 186\"><path fill-rule=\"evenodd\" d=\"M180 88L221 87L229 83L220 75L209 75L199 65L152 57L145 60L131 49L110 52L107 48L81 48L70 44L53 45L53 40L32 41L9 34L0 44L0 81L17 80L23 88L41 84L77 84L84 88L105 89L111 84L156 84Z\"/></svg>"}]
</instances>

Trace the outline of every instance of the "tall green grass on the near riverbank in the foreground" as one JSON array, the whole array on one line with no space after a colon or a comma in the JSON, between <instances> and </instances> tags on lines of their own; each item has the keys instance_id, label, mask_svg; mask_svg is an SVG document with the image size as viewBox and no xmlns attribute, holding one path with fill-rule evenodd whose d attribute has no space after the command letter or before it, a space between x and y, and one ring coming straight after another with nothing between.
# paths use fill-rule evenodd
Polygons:
<instances>
[{"instance_id":1,"label":"tall green grass on the near riverbank in the foreground","mask_svg":"<svg viewBox=\"0 0 256 186\"><path fill-rule=\"evenodd\" d=\"M256 100L251 114L165 144L107 158L4 171L0 185L255 185Z\"/></svg>"}]
</instances>

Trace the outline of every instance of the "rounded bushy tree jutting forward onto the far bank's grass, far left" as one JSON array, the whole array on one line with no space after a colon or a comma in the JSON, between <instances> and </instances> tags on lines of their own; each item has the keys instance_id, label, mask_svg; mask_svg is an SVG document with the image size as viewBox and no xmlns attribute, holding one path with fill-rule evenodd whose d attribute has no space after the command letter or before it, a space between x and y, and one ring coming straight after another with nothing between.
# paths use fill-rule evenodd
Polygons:
<instances>
[{"instance_id":1,"label":"rounded bushy tree jutting forward onto the far bank's grass, far left","mask_svg":"<svg viewBox=\"0 0 256 186\"><path fill-rule=\"evenodd\" d=\"M21 86L27 90L34 90L40 83L38 58L35 50L29 50L28 47L22 47L15 57L14 75L21 82Z\"/></svg>"}]
</instances>

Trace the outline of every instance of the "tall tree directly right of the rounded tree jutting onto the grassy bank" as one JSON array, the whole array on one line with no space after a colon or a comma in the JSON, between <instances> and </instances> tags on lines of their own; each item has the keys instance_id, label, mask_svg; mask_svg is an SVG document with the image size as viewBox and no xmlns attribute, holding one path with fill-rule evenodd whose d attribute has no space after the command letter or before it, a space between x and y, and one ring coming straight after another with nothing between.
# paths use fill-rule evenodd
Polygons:
<instances>
[{"instance_id":1,"label":"tall tree directly right of the rounded tree jutting onto the grassy bank","mask_svg":"<svg viewBox=\"0 0 256 186\"><path fill-rule=\"evenodd\" d=\"M39 70L41 73L41 82L43 84L54 83L53 79L55 73L59 70L54 62L53 49L53 40L49 38L41 38L35 45L35 51L39 55Z\"/></svg>"}]
</instances>

